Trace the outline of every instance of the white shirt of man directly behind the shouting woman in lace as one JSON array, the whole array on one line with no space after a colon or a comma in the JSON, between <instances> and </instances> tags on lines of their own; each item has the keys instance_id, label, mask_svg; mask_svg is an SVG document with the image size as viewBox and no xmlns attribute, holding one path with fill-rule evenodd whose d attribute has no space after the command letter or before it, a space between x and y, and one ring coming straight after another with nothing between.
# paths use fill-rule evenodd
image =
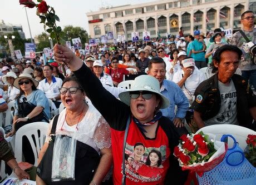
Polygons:
<instances>
[{"instance_id":1,"label":"white shirt of man directly behind the shouting woman in lace","mask_svg":"<svg viewBox=\"0 0 256 185\"><path fill-rule=\"evenodd\" d=\"M39 82L38 89L42 90L45 93L47 98L55 98L60 95L58 90L62 86L62 79L52 76L52 82L49 84L47 79L43 79Z\"/></svg>"}]
</instances>

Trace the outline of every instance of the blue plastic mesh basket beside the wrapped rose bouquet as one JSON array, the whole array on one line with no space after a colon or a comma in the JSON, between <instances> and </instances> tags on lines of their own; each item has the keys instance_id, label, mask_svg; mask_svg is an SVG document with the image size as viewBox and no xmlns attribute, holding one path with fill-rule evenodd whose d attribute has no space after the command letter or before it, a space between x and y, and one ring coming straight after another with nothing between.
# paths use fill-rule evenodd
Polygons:
<instances>
[{"instance_id":1,"label":"blue plastic mesh basket beside the wrapped rose bouquet","mask_svg":"<svg viewBox=\"0 0 256 185\"><path fill-rule=\"evenodd\" d=\"M255 185L256 184L256 168L249 163L244 157L242 149L238 146L235 138L229 134L223 135L221 141L225 141L228 137L234 140L232 148L228 148L223 161L214 169L205 172L199 177L198 182L201 185Z\"/></svg>"}]
</instances>

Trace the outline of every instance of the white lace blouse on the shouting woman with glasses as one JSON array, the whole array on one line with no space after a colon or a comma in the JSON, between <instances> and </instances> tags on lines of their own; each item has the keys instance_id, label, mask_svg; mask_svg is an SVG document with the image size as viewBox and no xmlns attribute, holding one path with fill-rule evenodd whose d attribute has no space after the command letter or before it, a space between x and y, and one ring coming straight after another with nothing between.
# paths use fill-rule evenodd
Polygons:
<instances>
[{"instance_id":1,"label":"white lace blouse on the shouting woman with glasses","mask_svg":"<svg viewBox=\"0 0 256 185\"><path fill-rule=\"evenodd\" d=\"M103 148L111 147L110 127L106 120L101 116L100 112L88 104L89 108L85 114L85 117L77 124L68 126L65 120L66 108L60 113L58 117L56 135L63 134L70 137L76 137L76 139L82 143L88 144L94 148L99 154ZM53 120L50 122L48 136L46 142L50 140L50 132L52 128ZM63 124L63 127L62 127ZM76 126L78 129L76 129ZM61 131L61 127L63 130Z\"/></svg>"}]
</instances>

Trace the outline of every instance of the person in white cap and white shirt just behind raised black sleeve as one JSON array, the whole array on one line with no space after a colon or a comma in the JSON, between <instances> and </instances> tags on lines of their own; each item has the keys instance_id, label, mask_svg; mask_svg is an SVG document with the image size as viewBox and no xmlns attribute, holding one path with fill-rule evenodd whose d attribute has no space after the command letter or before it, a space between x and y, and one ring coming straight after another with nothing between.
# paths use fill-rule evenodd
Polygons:
<instances>
[{"instance_id":1,"label":"person in white cap and white shirt just behind raised black sleeve","mask_svg":"<svg viewBox=\"0 0 256 185\"><path fill-rule=\"evenodd\" d=\"M93 62L93 72L102 84L114 86L111 76L103 72L103 64L100 60Z\"/></svg>"}]
</instances>

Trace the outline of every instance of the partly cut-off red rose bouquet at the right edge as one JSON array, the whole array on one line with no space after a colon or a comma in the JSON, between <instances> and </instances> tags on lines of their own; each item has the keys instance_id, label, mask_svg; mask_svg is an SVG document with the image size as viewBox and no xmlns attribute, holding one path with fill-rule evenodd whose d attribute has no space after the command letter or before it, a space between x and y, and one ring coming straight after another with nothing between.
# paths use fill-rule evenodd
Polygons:
<instances>
[{"instance_id":1,"label":"partly cut-off red rose bouquet at the right edge","mask_svg":"<svg viewBox=\"0 0 256 185\"><path fill-rule=\"evenodd\" d=\"M256 167L256 135L249 134L246 139L247 147L244 150L244 156Z\"/></svg>"}]
</instances>

